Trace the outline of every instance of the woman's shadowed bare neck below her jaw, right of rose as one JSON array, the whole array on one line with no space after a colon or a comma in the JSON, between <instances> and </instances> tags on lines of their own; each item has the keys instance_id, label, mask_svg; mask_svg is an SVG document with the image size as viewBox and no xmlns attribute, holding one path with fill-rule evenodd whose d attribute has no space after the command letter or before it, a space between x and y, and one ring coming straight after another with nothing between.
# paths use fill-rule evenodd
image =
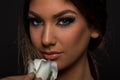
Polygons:
<instances>
[{"instance_id":1,"label":"woman's shadowed bare neck below her jaw, right of rose","mask_svg":"<svg viewBox=\"0 0 120 80\"><path fill-rule=\"evenodd\" d=\"M82 55L72 66L59 72L58 80L93 80L87 54Z\"/></svg>"}]
</instances>

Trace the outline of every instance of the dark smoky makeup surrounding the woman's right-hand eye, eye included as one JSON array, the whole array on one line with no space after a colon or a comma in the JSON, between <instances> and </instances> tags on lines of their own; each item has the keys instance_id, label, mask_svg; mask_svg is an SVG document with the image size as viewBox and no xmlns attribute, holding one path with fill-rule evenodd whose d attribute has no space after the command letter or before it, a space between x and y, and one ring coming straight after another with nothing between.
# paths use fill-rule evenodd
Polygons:
<instances>
[{"instance_id":1,"label":"dark smoky makeup surrounding the woman's right-hand eye, eye included","mask_svg":"<svg viewBox=\"0 0 120 80\"><path fill-rule=\"evenodd\" d=\"M76 20L75 16L63 16L59 17L57 20L57 25L59 26L69 26L70 24L74 23Z\"/></svg>"}]
</instances>

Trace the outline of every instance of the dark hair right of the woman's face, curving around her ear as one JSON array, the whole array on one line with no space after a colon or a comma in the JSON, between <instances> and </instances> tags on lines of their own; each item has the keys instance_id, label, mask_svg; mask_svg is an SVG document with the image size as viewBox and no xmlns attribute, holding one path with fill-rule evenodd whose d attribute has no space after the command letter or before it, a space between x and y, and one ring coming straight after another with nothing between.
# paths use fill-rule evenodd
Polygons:
<instances>
[{"instance_id":1,"label":"dark hair right of the woman's face, curving around her ear","mask_svg":"<svg viewBox=\"0 0 120 80\"><path fill-rule=\"evenodd\" d=\"M107 12L106 2L102 0L70 0L85 17L90 28L96 30L100 36L91 38L88 49L94 50L101 43L106 32Z\"/></svg>"}]
</instances>

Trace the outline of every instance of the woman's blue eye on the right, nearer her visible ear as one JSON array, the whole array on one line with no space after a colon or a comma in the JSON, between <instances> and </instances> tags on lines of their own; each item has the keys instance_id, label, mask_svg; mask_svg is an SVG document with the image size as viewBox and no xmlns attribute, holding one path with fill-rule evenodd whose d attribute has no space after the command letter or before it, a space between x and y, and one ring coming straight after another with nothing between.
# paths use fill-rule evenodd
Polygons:
<instances>
[{"instance_id":1,"label":"woman's blue eye on the right, nearer her visible ear","mask_svg":"<svg viewBox=\"0 0 120 80\"><path fill-rule=\"evenodd\" d=\"M65 18L60 18L57 24L61 26L68 26L74 21L75 21L75 18L73 17L65 17Z\"/></svg>"}]
</instances>

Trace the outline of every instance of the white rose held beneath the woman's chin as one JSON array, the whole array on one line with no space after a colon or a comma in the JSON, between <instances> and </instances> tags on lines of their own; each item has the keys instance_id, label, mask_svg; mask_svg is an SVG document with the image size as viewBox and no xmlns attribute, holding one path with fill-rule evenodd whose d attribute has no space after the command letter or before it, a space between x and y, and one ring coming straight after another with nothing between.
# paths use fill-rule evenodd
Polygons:
<instances>
[{"instance_id":1,"label":"white rose held beneath the woman's chin","mask_svg":"<svg viewBox=\"0 0 120 80\"><path fill-rule=\"evenodd\" d=\"M35 59L29 61L28 73L34 72L36 78L42 80L55 80L57 78L58 69L54 61L45 59Z\"/></svg>"}]
</instances>

